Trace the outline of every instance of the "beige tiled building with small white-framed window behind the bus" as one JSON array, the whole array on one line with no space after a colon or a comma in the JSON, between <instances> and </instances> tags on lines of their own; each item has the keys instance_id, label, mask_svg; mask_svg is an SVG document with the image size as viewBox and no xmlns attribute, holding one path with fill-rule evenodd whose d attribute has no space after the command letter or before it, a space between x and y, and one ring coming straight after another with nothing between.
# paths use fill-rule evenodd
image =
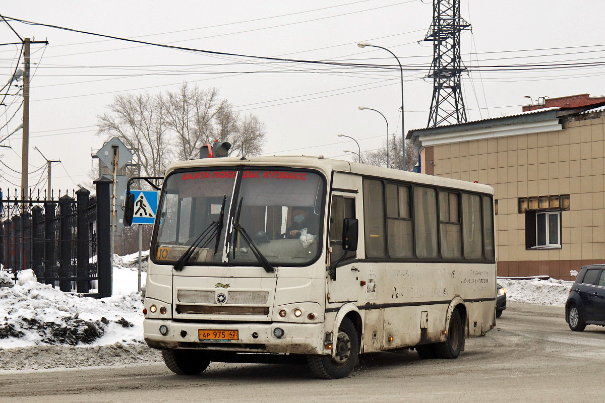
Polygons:
<instances>
[{"instance_id":1,"label":"beige tiled building with small white-framed window behind the bus","mask_svg":"<svg viewBox=\"0 0 605 403\"><path fill-rule=\"evenodd\" d=\"M571 270L605 262L605 102L573 98L408 132L422 173L494 187L499 276L574 280Z\"/></svg>"}]
</instances>

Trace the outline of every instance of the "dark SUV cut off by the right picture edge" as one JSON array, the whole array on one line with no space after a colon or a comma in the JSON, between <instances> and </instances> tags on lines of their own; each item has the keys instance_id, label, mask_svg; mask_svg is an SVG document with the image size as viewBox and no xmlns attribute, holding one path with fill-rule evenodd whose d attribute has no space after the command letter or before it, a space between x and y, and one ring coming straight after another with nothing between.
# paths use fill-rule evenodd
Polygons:
<instances>
[{"instance_id":1,"label":"dark SUV cut off by the right picture edge","mask_svg":"<svg viewBox=\"0 0 605 403\"><path fill-rule=\"evenodd\" d=\"M575 332L587 324L605 326L605 264L582 268L569 290L565 320Z\"/></svg>"}]
</instances>

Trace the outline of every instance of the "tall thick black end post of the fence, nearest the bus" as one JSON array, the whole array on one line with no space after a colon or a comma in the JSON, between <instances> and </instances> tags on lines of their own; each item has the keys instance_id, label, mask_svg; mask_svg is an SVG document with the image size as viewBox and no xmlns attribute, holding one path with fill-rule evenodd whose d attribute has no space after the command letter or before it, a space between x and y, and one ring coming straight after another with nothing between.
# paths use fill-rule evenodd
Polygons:
<instances>
[{"instance_id":1,"label":"tall thick black end post of the fence, nearest the bus","mask_svg":"<svg viewBox=\"0 0 605 403\"><path fill-rule=\"evenodd\" d=\"M111 267L110 184L101 176L97 185L97 262L99 265L99 297L111 297L113 268Z\"/></svg>"}]
</instances>

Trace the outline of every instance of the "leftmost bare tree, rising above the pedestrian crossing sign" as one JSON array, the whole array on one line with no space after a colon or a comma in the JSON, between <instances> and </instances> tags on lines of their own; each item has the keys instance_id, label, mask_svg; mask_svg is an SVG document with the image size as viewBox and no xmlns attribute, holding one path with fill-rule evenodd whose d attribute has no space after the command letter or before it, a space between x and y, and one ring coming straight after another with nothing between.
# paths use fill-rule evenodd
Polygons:
<instances>
[{"instance_id":1,"label":"leftmost bare tree, rising above the pedestrian crossing sign","mask_svg":"<svg viewBox=\"0 0 605 403\"><path fill-rule=\"evenodd\" d=\"M99 116L97 135L117 136L137 153L142 173L158 176L164 172L169 157L169 134L166 110L147 92L117 94L108 106L110 113Z\"/></svg>"}]
</instances>

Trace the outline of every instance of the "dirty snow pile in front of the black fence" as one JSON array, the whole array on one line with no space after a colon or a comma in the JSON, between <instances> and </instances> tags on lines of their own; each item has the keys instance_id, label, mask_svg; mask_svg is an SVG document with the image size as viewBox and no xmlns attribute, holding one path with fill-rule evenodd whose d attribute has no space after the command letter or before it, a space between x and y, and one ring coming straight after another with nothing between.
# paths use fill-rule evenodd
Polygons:
<instances>
[{"instance_id":1,"label":"dirty snow pile in front of the black fence","mask_svg":"<svg viewBox=\"0 0 605 403\"><path fill-rule=\"evenodd\" d=\"M23 272L17 285L0 288L1 347L142 341L139 294L81 298L38 283Z\"/></svg>"}]
</instances>

